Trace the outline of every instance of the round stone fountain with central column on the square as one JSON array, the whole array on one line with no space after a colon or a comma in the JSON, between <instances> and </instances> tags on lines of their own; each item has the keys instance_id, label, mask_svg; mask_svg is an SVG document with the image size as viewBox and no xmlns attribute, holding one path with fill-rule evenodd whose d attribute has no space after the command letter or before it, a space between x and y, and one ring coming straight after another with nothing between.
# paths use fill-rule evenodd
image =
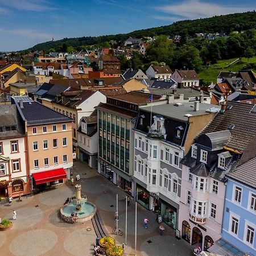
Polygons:
<instances>
[{"instance_id":1,"label":"round stone fountain with central column on the square","mask_svg":"<svg viewBox=\"0 0 256 256\"><path fill-rule=\"evenodd\" d=\"M86 222L93 218L97 211L96 205L89 203L84 194L81 193L81 185L75 185L76 193L71 197L70 203L60 209L60 216L64 221L72 222L71 214L77 214L77 222Z\"/></svg>"}]
</instances>

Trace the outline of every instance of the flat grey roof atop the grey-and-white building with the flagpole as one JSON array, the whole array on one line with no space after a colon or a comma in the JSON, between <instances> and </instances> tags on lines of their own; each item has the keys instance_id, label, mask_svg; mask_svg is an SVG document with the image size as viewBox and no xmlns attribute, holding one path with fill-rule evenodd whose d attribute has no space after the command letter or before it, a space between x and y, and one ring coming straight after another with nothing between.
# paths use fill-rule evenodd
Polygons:
<instances>
[{"instance_id":1,"label":"flat grey roof atop the grey-and-white building with the flagpole","mask_svg":"<svg viewBox=\"0 0 256 256\"><path fill-rule=\"evenodd\" d=\"M146 112L151 112L150 105L141 106L140 108ZM175 118L180 121L187 121L188 117L184 116L185 114L189 114L193 116L204 115L204 114L207 114L207 112L210 113L211 108L214 108L214 109L218 108L218 110L220 110L219 106L206 104L206 103L199 103L199 110L194 111L192 102L184 102L181 105L179 104L153 105L152 112L154 114L164 115L164 117Z\"/></svg>"}]
</instances>

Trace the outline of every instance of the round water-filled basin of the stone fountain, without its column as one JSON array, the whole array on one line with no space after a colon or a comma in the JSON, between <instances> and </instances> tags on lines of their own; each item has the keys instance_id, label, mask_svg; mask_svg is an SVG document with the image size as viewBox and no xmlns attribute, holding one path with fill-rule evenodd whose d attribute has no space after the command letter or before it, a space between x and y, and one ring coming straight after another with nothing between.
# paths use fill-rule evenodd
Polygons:
<instances>
[{"instance_id":1,"label":"round water-filled basin of the stone fountain, without its column","mask_svg":"<svg viewBox=\"0 0 256 256\"><path fill-rule=\"evenodd\" d=\"M69 203L65 204L60 209L60 216L65 220L65 218L69 218L71 220L71 214L77 213L77 222L86 222L93 218L93 216L96 214L97 207L93 203L85 202L81 204L81 209L77 210L76 205ZM65 217L65 218L64 218Z\"/></svg>"}]
</instances>

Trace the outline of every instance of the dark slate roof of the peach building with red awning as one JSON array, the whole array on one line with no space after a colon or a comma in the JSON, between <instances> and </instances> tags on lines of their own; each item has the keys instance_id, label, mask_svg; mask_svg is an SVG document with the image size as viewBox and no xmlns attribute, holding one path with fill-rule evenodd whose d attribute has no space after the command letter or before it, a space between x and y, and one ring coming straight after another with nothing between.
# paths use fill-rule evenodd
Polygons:
<instances>
[{"instance_id":1,"label":"dark slate roof of the peach building with red awning","mask_svg":"<svg viewBox=\"0 0 256 256\"><path fill-rule=\"evenodd\" d=\"M73 122L73 119L35 101L23 101L23 108L20 108L20 102L16 102L16 106L18 106L20 113L22 113L24 119L27 121L27 126Z\"/></svg>"}]
</instances>

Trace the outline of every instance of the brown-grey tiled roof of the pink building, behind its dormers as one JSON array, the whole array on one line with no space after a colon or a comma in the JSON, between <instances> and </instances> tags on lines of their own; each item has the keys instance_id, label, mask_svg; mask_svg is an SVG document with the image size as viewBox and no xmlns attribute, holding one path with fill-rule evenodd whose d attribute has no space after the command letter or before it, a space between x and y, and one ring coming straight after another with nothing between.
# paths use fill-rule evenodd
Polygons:
<instances>
[{"instance_id":1,"label":"brown-grey tiled roof of the pink building, behind its dormers","mask_svg":"<svg viewBox=\"0 0 256 256\"><path fill-rule=\"evenodd\" d=\"M230 130L232 137L226 146L243 152L256 134L256 113L251 112L254 105L235 101L228 101L227 105L231 109L227 108L223 114L218 113L201 134L228 130L230 125L234 125L234 129Z\"/></svg>"}]
</instances>

